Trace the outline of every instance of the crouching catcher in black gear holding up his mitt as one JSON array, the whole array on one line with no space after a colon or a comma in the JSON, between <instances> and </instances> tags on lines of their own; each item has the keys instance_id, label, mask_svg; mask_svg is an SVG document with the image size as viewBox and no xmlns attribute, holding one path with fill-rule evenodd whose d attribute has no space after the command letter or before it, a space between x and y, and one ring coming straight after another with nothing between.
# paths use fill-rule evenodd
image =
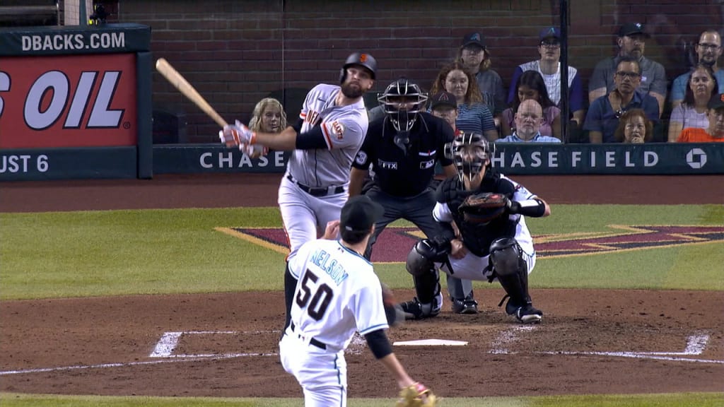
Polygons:
<instances>
[{"instance_id":1,"label":"crouching catcher in black gear holding up his mitt","mask_svg":"<svg viewBox=\"0 0 724 407\"><path fill-rule=\"evenodd\" d=\"M528 293L528 274L536 264L533 239L525 217L547 217L550 206L523 185L490 166L490 146L483 135L458 135L446 151L455 161L458 177L437 188L433 217L445 232L418 241L408 254L406 268L413 274L416 298L400 304L408 319L437 314L438 268L455 277L497 280L505 290L505 311L518 322L540 322ZM456 233L453 224L457 226Z\"/></svg>"}]
</instances>

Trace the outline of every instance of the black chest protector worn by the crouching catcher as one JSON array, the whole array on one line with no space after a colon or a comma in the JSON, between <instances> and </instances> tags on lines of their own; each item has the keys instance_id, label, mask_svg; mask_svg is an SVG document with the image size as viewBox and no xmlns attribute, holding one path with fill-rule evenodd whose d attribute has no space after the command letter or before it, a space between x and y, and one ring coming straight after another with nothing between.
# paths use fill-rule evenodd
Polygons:
<instances>
[{"instance_id":1,"label":"black chest protector worn by the crouching catcher","mask_svg":"<svg viewBox=\"0 0 724 407\"><path fill-rule=\"evenodd\" d=\"M490 169L488 170L490 171ZM439 189L442 197L450 208L452 219L458 225L460 235L462 235L463 243L471 253L479 257L489 254L490 245L494 240L500 238L514 238L515 228L518 225L520 217L515 216L514 219L507 214L493 219L487 224L467 222L463 214L459 211L460 204L465 198L475 193L494 192L502 193L508 198L513 197L515 187L508 180L500 178L500 175L493 172L487 172L480 187L476 190L465 190L465 185L459 177L448 178L442 182Z\"/></svg>"}]
</instances>

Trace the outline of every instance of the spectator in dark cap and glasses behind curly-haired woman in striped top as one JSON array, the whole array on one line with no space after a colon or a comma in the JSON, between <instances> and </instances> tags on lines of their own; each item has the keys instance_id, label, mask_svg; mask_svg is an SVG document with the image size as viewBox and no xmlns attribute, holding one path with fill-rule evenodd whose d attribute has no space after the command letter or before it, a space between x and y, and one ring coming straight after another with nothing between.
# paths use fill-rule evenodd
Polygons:
<instances>
[{"instance_id":1,"label":"spectator in dark cap and glasses behind curly-haired woman in striped top","mask_svg":"<svg viewBox=\"0 0 724 407\"><path fill-rule=\"evenodd\" d=\"M493 117L500 117L506 107L505 91L500 75L490 68L492 60L484 36L481 33L470 33L463 37L456 61L476 78L483 103L488 106Z\"/></svg>"}]
</instances>

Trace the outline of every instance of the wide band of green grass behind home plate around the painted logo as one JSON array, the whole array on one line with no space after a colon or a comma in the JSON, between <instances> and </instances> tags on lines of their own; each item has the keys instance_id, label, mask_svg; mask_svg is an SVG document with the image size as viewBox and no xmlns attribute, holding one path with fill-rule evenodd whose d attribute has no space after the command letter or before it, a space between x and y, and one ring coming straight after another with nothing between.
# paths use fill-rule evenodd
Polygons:
<instances>
[{"instance_id":1,"label":"wide band of green grass behind home plate around the painted logo","mask_svg":"<svg viewBox=\"0 0 724 407\"><path fill-rule=\"evenodd\" d=\"M281 227L278 209L5 213L0 225L3 300L282 289L281 253L214 230ZM724 207L558 205L552 217L529 219L534 235L612 232L607 225L724 225ZM724 290L723 248L717 242L540 259L531 285ZM392 288L409 288L402 264L376 269Z\"/></svg>"}]
</instances>

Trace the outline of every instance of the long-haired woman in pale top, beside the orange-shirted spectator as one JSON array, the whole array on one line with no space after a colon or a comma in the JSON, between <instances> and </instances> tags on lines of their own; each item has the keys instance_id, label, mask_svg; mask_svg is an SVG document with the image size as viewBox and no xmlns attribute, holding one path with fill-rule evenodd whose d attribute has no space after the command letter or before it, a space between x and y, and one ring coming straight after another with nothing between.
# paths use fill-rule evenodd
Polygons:
<instances>
[{"instance_id":1,"label":"long-haired woman in pale top, beside the orange-shirted spectator","mask_svg":"<svg viewBox=\"0 0 724 407\"><path fill-rule=\"evenodd\" d=\"M683 98L683 103L674 107L669 120L668 140L670 143L676 141L684 128L706 129L709 127L707 105L710 99L720 92L717 91L718 80L710 65L699 62L694 70L686 76L688 76L686 96Z\"/></svg>"}]
</instances>

